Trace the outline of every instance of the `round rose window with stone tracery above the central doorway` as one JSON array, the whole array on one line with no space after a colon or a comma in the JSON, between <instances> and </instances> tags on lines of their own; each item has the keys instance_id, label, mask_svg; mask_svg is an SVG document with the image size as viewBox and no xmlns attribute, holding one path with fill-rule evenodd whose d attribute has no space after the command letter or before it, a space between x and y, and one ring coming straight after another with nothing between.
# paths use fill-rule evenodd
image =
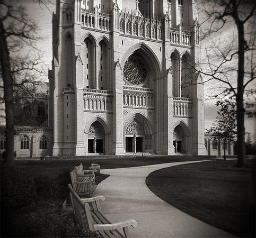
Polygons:
<instances>
[{"instance_id":1,"label":"round rose window with stone tracery above the central doorway","mask_svg":"<svg viewBox=\"0 0 256 238\"><path fill-rule=\"evenodd\" d=\"M129 58L123 67L123 76L130 84L142 85L147 78L146 66L138 58Z\"/></svg>"}]
</instances>

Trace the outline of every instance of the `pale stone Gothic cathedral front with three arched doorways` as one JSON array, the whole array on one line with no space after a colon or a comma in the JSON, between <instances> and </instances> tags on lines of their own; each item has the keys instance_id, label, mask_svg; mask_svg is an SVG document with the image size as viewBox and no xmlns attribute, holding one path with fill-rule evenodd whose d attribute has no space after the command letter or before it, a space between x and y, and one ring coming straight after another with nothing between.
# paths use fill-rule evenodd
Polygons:
<instances>
[{"instance_id":1,"label":"pale stone Gothic cathedral front with three arched doorways","mask_svg":"<svg viewBox=\"0 0 256 238\"><path fill-rule=\"evenodd\" d=\"M53 155L205 154L195 0L61 0Z\"/></svg>"}]
</instances>

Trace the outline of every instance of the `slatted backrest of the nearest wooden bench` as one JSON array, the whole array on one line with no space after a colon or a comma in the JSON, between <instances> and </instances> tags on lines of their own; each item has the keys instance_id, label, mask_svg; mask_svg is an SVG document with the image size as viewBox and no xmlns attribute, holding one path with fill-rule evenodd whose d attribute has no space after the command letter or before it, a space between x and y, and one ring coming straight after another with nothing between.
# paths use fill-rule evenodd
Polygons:
<instances>
[{"instance_id":1,"label":"slatted backrest of the nearest wooden bench","mask_svg":"<svg viewBox=\"0 0 256 238\"><path fill-rule=\"evenodd\" d=\"M95 231L89 204L82 202L70 184L68 189L76 222L84 228Z\"/></svg>"}]
</instances>

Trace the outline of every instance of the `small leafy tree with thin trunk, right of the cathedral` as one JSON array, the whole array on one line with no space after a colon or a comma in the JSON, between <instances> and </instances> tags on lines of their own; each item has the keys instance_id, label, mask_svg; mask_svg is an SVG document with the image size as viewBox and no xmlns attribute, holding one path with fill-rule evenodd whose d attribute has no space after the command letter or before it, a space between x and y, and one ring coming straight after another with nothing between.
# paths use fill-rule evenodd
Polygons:
<instances>
[{"instance_id":1,"label":"small leafy tree with thin trunk, right of the cathedral","mask_svg":"<svg viewBox=\"0 0 256 238\"><path fill-rule=\"evenodd\" d=\"M218 101L216 106L220 106L217 112L217 121L214 126L208 130L208 133L213 136L214 140L223 141L224 145L224 160L226 160L226 145L228 141L233 141L235 138L235 103L232 100Z\"/></svg>"}]
</instances>

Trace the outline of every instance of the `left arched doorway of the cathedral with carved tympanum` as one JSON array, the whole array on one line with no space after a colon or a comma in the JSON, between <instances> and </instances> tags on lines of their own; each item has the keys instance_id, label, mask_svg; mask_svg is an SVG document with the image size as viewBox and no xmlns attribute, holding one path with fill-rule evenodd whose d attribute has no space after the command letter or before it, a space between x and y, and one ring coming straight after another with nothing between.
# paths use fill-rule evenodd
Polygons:
<instances>
[{"instance_id":1,"label":"left arched doorway of the cathedral with carved tympanum","mask_svg":"<svg viewBox=\"0 0 256 238\"><path fill-rule=\"evenodd\" d=\"M99 121L91 124L88 130L88 152L89 153L104 153L105 132Z\"/></svg>"}]
</instances>

